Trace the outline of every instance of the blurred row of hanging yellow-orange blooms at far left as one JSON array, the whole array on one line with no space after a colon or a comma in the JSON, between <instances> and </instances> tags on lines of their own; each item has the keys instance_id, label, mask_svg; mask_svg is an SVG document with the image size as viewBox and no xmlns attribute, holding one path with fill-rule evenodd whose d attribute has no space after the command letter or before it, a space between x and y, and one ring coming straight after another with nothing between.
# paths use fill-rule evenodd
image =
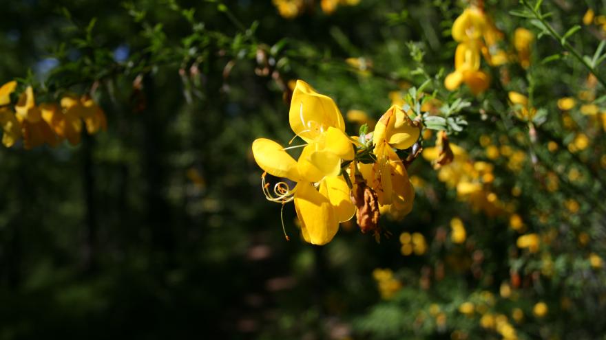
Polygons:
<instances>
[{"instance_id":1,"label":"blurred row of hanging yellow-orange blooms at far left","mask_svg":"<svg viewBox=\"0 0 606 340\"><path fill-rule=\"evenodd\" d=\"M23 139L25 149L43 144L56 146L64 139L75 146L80 143L83 124L91 135L107 128L105 113L87 95L65 95L59 105L37 105L34 90L27 87L19 95L13 111L10 96L16 89L17 82L14 81L0 87L2 144L8 148L20 139Z\"/></svg>"}]
</instances>

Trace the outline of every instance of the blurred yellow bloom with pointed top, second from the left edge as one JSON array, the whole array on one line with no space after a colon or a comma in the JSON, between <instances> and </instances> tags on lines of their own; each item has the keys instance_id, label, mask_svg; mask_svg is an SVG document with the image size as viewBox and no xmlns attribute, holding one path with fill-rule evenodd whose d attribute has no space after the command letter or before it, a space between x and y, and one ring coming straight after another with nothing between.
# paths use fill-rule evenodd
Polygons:
<instances>
[{"instance_id":1,"label":"blurred yellow bloom with pointed top, second from the left edge","mask_svg":"<svg viewBox=\"0 0 606 340\"><path fill-rule=\"evenodd\" d=\"M23 133L23 146L26 149L35 148L42 144L55 146L59 140L52 128L42 119L42 113L34 100L34 89L28 87L21 93L17 105L17 120L21 123Z\"/></svg>"}]
</instances>

